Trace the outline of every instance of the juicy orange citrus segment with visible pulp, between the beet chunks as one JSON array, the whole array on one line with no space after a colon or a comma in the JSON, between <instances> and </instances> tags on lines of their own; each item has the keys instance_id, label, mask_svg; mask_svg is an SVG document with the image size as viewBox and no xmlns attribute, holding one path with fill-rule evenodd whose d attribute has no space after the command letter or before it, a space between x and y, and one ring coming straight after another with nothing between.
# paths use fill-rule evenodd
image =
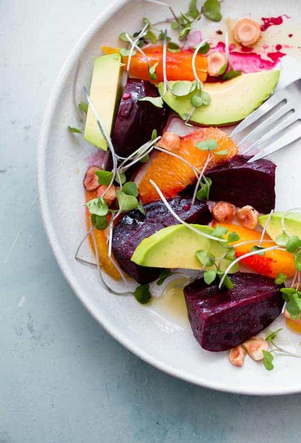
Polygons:
<instances>
[{"instance_id":1,"label":"juicy orange citrus segment with visible pulp, between the beet chunks","mask_svg":"<svg viewBox=\"0 0 301 443\"><path fill-rule=\"evenodd\" d=\"M238 148L235 143L217 127L202 127L185 137L181 137L180 147L171 149L171 151L201 170L208 157L208 151L201 151L196 148L196 144L207 139L217 141L218 148L216 151L228 151L228 154L224 156L214 156L209 162L208 169L237 155ZM149 165L139 183L140 198L144 204L160 198L149 182L150 179L159 186L166 197L175 197L178 192L196 181L196 175L192 168L180 159L166 153L159 153Z\"/></svg>"}]
</instances>

